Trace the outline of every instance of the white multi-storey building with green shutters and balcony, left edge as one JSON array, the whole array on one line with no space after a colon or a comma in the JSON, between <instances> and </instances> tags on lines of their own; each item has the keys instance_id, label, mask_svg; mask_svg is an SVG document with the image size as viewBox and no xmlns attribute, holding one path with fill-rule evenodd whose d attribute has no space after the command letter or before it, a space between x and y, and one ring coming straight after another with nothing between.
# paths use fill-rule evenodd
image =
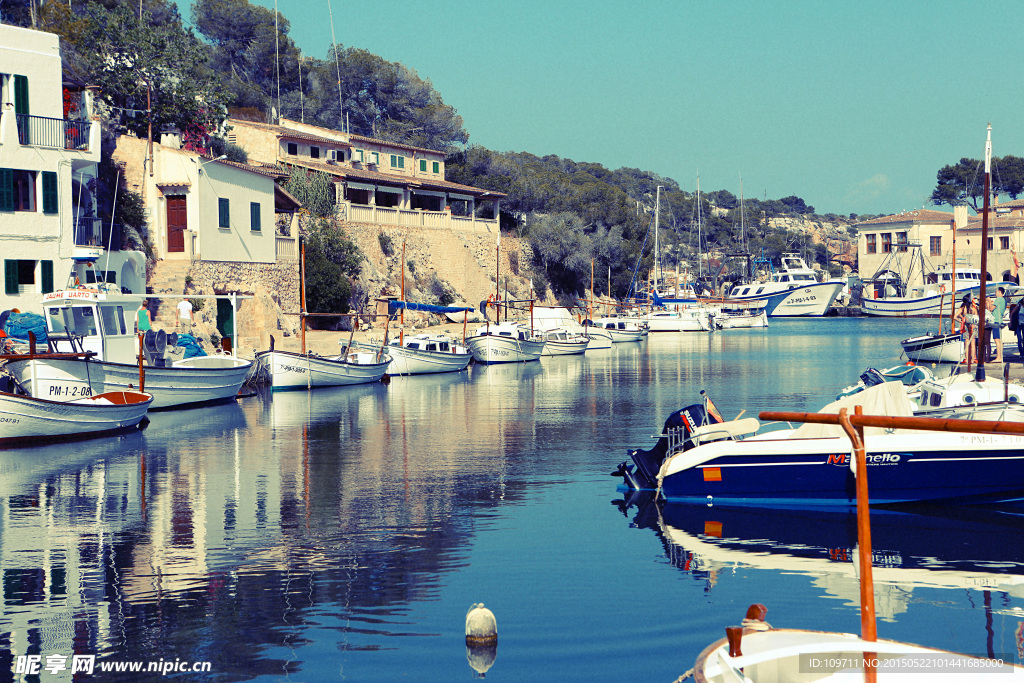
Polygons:
<instances>
[{"instance_id":1,"label":"white multi-storey building with green shutters and balcony, left edge","mask_svg":"<svg viewBox=\"0 0 1024 683\"><path fill-rule=\"evenodd\" d=\"M65 84L50 33L0 26L0 310L39 312L76 258L123 288L145 285L142 254L122 252L120 228L96 215L99 122L88 90ZM91 270L78 267L82 282Z\"/></svg>"}]
</instances>

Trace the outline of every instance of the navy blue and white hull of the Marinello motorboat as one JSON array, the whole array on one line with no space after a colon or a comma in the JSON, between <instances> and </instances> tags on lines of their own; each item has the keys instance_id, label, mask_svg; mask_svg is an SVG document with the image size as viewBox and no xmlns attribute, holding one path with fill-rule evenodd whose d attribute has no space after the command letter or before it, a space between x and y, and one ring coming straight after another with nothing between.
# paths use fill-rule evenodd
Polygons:
<instances>
[{"instance_id":1,"label":"navy blue and white hull of the Marinello motorboat","mask_svg":"<svg viewBox=\"0 0 1024 683\"><path fill-rule=\"evenodd\" d=\"M866 446L872 505L1024 499L1024 436L883 434ZM667 462L662 492L680 503L854 507L849 459L845 437L710 443Z\"/></svg>"}]
</instances>

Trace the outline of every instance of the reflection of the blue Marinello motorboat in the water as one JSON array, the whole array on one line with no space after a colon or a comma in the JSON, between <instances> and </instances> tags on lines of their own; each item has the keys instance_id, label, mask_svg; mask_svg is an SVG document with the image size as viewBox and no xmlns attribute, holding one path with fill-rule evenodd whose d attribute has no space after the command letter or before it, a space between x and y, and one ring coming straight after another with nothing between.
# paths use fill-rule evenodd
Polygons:
<instances>
[{"instance_id":1,"label":"reflection of the blue Marinello motorboat in the water","mask_svg":"<svg viewBox=\"0 0 1024 683\"><path fill-rule=\"evenodd\" d=\"M725 569L813 577L824 596L859 605L852 511L659 505L642 493L616 502L653 529L671 563L712 589ZM1001 508L872 509L878 616L905 612L920 588L999 591L1024 597L1024 511Z\"/></svg>"}]
</instances>

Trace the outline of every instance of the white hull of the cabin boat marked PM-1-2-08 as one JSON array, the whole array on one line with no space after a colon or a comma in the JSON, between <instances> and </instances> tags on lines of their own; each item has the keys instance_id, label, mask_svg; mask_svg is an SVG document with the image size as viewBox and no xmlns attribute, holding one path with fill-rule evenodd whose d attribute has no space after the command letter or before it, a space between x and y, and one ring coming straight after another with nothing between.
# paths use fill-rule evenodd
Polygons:
<instances>
[{"instance_id":1,"label":"white hull of the cabin boat marked PM-1-2-08","mask_svg":"<svg viewBox=\"0 0 1024 683\"><path fill-rule=\"evenodd\" d=\"M143 369L150 410L183 408L233 400L249 374L249 360L208 355L175 361L169 368ZM129 391L139 386L138 366L83 358L12 360L7 369L33 396L62 399L105 391Z\"/></svg>"}]
</instances>

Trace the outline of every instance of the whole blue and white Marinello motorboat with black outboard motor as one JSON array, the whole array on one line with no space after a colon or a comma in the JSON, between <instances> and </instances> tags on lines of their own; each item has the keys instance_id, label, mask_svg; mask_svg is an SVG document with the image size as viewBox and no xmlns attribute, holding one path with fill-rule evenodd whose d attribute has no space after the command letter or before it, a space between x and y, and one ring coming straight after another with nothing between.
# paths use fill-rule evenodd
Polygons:
<instances>
[{"instance_id":1,"label":"whole blue and white Marinello motorboat with black outboard motor","mask_svg":"<svg viewBox=\"0 0 1024 683\"><path fill-rule=\"evenodd\" d=\"M820 413L854 405L867 414L914 415L898 382L868 387ZM766 431L755 418L723 422L705 415L700 404L674 413L655 446L629 452L635 468L624 463L616 474L631 487L658 489L670 502L854 505L849 441L838 427ZM873 504L1024 500L1024 437L993 435L979 443L944 432L876 429L867 451Z\"/></svg>"}]
</instances>

